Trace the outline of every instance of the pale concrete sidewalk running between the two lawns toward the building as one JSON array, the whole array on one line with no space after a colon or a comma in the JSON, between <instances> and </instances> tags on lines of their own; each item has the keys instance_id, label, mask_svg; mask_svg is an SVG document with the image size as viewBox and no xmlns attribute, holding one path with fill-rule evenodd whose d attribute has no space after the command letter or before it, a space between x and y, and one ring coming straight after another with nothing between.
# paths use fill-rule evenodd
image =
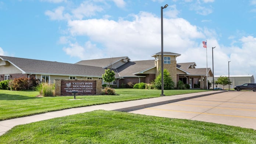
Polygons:
<instances>
[{"instance_id":1,"label":"pale concrete sidewalk running between the two lawns toward the building","mask_svg":"<svg viewBox=\"0 0 256 144\"><path fill-rule=\"evenodd\" d=\"M157 105L168 104L171 102L188 100L191 98L208 96L211 94L223 93L226 91L205 91L200 93L191 93L191 94L181 94L175 96L165 96L165 97L156 97L156 98L147 98L142 100L134 100L134 101L125 101L125 102L116 102L110 104L102 104L102 105L93 105L89 107L81 107L81 108L71 108L65 109L61 111L47 112L39 115L26 116L22 118L15 118L9 120L0 121L0 136L17 125L23 125L26 123L38 122L41 120L58 118L67 115L74 115L83 112L89 112L94 110L103 109L106 111L135 111L138 109L154 107Z\"/></svg>"}]
</instances>

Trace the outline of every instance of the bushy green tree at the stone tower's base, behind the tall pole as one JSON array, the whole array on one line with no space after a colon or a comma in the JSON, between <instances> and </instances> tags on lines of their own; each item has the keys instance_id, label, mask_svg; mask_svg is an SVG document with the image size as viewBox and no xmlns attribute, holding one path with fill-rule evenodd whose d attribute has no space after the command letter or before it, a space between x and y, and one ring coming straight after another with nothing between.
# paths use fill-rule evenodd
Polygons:
<instances>
[{"instance_id":1,"label":"bushy green tree at the stone tower's base, behind the tall pole","mask_svg":"<svg viewBox=\"0 0 256 144\"><path fill-rule=\"evenodd\" d=\"M156 77L154 80L154 86L157 89L161 89L162 82L161 82L161 73ZM164 69L164 90L174 89L174 82L170 77L170 72L167 69Z\"/></svg>"}]
</instances>

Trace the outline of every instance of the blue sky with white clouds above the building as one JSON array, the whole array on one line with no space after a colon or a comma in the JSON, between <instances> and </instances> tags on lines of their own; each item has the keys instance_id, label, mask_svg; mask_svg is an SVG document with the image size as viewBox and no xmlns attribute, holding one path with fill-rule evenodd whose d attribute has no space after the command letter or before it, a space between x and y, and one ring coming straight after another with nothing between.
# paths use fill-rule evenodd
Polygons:
<instances>
[{"instance_id":1,"label":"blue sky with white clouds above the building","mask_svg":"<svg viewBox=\"0 0 256 144\"><path fill-rule=\"evenodd\" d=\"M256 76L256 0L0 0L0 55L152 60L165 4L163 47L181 54L177 63L214 63L216 76L228 75L230 61L230 75Z\"/></svg>"}]
</instances>

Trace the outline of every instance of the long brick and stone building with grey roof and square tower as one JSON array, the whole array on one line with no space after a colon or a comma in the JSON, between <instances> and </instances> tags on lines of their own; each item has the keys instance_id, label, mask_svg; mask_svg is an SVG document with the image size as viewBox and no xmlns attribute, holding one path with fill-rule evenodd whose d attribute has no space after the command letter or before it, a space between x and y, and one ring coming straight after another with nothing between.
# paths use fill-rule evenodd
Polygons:
<instances>
[{"instance_id":1,"label":"long brick and stone building with grey roof and square tower","mask_svg":"<svg viewBox=\"0 0 256 144\"><path fill-rule=\"evenodd\" d=\"M164 68L168 69L175 83L178 80L194 88L199 84L206 89L207 76L212 76L211 69L195 68L195 62L177 63L181 54L164 52ZM75 64L32 60L26 58L0 56L0 81L20 77L35 77L54 83L55 79L97 79L102 80L105 69L115 72L113 87L121 87L128 82L150 83L161 72L161 53L151 55L154 60L131 61L129 57L102 58L83 60ZM104 84L104 82L102 82Z\"/></svg>"}]
</instances>

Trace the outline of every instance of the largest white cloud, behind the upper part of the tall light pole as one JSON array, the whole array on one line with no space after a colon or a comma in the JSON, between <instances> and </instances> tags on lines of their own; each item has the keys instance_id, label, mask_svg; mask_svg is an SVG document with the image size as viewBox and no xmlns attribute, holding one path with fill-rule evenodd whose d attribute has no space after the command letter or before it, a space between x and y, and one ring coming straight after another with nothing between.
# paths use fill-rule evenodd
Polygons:
<instances>
[{"instance_id":1,"label":"largest white cloud, behind the upper part of the tall light pole","mask_svg":"<svg viewBox=\"0 0 256 144\"><path fill-rule=\"evenodd\" d=\"M129 56L132 60L151 59L150 55L161 48L160 18L147 12L134 15L133 21L88 19L69 21L72 36L88 36L95 43L102 44L98 53L115 56ZM182 18L164 19L164 47L166 51L180 53L187 47L197 45L193 39L204 35L196 26ZM185 42L185 43L184 43ZM129 55L128 55L129 54ZM113 56L113 54L112 54Z\"/></svg>"}]
</instances>

